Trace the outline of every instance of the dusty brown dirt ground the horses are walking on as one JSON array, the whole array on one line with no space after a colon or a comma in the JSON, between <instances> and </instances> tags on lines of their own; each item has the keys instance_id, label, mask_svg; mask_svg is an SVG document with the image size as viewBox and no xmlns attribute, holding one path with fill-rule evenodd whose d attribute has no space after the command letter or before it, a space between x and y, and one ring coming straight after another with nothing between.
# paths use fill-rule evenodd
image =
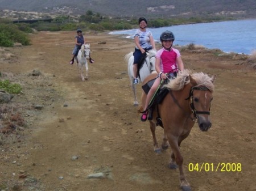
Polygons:
<instances>
[{"instance_id":1,"label":"dusty brown dirt ground the horses are walking on","mask_svg":"<svg viewBox=\"0 0 256 191\"><path fill-rule=\"evenodd\" d=\"M170 149L154 154L148 123L133 106L123 61L133 41L86 33L95 62L82 82L76 65L68 64L74 35L31 35L31 46L10 49L13 61L0 63L1 72L24 87L13 103L30 105L23 111L28 128L1 135L0 190L180 190L179 172L167 167ZM217 75L212 128L205 133L195 125L181 145L192 190L256 190L255 70L239 59L181 54L185 67ZM29 75L32 70L42 75ZM35 104L43 109L33 109ZM161 142L161 128L157 134ZM214 169L190 172L189 164L196 163ZM219 163L226 171L234 163L234 172L215 172ZM97 172L106 177L87 178Z\"/></svg>"}]
</instances>

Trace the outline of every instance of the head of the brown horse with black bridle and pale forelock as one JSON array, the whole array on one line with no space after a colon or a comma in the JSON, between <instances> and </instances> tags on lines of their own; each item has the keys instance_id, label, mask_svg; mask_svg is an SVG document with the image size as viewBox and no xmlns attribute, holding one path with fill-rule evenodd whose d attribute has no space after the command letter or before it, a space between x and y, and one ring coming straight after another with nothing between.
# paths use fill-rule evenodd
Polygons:
<instances>
[{"instance_id":1,"label":"head of the brown horse with black bridle and pale forelock","mask_svg":"<svg viewBox=\"0 0 256 191\"><path fill-rule=\"evenodd\" d=\"M189 75L191 91L189 93L189 105L194 117L197 118L199 128L207 131L212 122L210 121L210 103L213 100L214 79L207 74L196 73Z\"/></svg>"}]
</instances>

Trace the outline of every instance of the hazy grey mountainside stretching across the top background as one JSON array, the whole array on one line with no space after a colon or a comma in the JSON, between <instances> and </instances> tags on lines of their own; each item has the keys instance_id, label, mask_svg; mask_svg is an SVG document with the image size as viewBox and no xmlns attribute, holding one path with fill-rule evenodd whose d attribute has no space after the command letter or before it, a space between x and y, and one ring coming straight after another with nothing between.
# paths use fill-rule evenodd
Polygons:
<instances>
[{"instance_id":1,"label":"hazy grey mountainside stretching across the top background","mask_svg":"<svg viewBox=\"0 0 256 191\"><path fill-rule=\"evenodd\" d=\"M0 10L80 15L92 10L102 15L131 17L233 16L255 18L255 0L0 0Z\"/></svg>"}]
</instances>

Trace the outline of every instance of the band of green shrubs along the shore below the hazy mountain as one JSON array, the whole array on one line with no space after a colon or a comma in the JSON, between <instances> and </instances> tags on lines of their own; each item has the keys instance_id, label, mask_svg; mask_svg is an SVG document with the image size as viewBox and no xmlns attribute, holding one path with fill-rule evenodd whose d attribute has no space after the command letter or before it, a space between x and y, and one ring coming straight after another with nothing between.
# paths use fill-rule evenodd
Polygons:
<instances>
[{"instance_id":1,"label":"band of green shrubs along the shore below the hazy mountain","mask_svg":"<svg viewBox=\"0 0 256 191\"><path fill-rule=\"evenodd\" d=\"M214 16L214 17L191 17L191 18L155 18L148 19L148 27L158 28L174 26L179 24L219 22L222 20L232 20L233 18ZM13 23L10 19L0 19L0 46L10 47L15 43L29 45L30 41L27 34L34 31L73 31L81 28L83 31L114 31L122 29L132 29L138 26L138 19L103 16L98 12L86 11L84 15L77 17L70 15L59 15L51 22ZM11 32L10 32L11 31Z\"/></svg>"}]
</instances>

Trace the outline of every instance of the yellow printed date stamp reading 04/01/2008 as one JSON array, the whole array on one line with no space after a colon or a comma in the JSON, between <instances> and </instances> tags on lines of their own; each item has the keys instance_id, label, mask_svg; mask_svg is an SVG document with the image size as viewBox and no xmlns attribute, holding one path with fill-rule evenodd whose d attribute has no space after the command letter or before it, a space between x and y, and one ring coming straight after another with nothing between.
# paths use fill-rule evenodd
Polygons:
<instances>
[{"instance_id":1,"label":"yellow printed date stamp reading 04/01/2008","mask_svg":"<svg viewBox=\"0 0 256 191\"><path fill-rule=\"evenodd\" d=\"M189 172L241 172L241 163L189 163Z\"/></svg>"}]
</instances>

